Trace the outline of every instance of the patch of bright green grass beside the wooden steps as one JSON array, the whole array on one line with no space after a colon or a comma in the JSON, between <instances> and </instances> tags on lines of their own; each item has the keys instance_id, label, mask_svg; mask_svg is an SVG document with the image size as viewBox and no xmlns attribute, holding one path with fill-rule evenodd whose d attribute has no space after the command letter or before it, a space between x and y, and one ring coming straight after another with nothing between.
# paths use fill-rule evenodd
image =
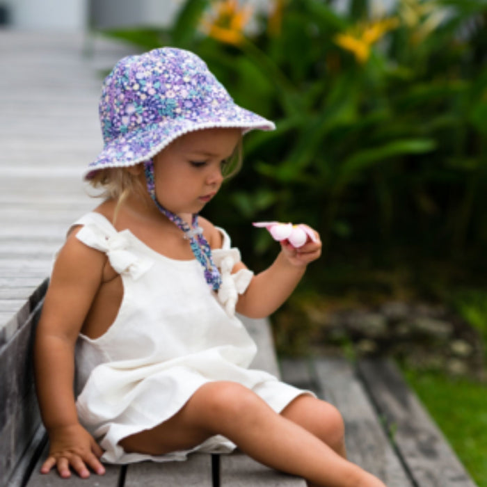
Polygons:
<instances>
[{"instance_id":1,"label":"patch of bright green grass beside the wooden steps","mask_svg":"<svg viewBox=\"0 0 487 487\"><path fill-rule=\"evenodd\" d=\"M433 372L404 374L474 481L487 487L487 385Z\"/></svg>"}]
</instances>

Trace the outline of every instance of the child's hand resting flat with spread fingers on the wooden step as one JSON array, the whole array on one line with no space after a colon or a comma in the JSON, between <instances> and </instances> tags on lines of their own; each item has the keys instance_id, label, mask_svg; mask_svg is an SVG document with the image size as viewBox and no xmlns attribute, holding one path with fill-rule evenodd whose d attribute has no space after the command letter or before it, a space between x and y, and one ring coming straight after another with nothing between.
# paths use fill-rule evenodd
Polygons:
<instances>
[{"instance_id":1,"label":"child's hand resting flat with spread fingers on the wooden step","mask_svg":"<svg viewBox=\"0 0 487 487\"><path fill-rule=\"evenodd\" d=\"M90 476L86 465L99 475L105 473L104 466L99 462L103 450L81 424L49 431L49 442L49 456L40 468L42 474L49 473L54 465L63 479L71 477L70 467L82 479Z\"/></svg>"}]
</instances>

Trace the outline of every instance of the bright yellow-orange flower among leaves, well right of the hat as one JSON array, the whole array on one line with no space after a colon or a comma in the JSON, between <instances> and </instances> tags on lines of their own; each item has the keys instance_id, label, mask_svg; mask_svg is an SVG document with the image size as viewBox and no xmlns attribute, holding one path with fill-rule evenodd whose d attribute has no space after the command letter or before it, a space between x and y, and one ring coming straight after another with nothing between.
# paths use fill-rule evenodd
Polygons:
<instances>
[{"instance_id":1,"label":"bright yellow-orange flower among leaves, well right of the hat","mask_svg":"<svg viewBox=\"0 0 487 487\"><path fill-rule=\"evenodd\" d=\"M335 44L351 51L360 64L364 64L370 57L370 49L373 44L383 38L385 33L396 29L399 21L395 17L381 19L358 26L355 29L335 35Z\"/></svg>"}]
</instances>

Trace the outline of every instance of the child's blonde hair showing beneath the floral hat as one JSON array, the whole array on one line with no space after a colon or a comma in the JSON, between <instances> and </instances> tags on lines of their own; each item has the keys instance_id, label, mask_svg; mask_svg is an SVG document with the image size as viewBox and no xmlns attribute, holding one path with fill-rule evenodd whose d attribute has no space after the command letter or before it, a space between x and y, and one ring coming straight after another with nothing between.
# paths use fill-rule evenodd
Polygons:
<instances>
[{"instance_id":1,"label":"child's blonde hair showing beneath the floral hat","mask_svg":"<svg viewBox=\"0 0 487 487\"><path fill-rule=\"evenodd\" d=\"M222 168L222 175L225 180L230 179L230 177L233 177L239 172L242 166L242 154L242 137L240 137L234 152L227 159L227 163ZM139 163L139 165L143 166L143 162ZM141 179L139 173L131 172L129 168L126 167L105 168L95 171L88 182L93 188L102 189L101 193L94 195L95 198L116 201L112 222L115 224L120 208L130 195L136 195L138 198L141 198L141 200L145 200L146 202L149 201L147 188Z\"/></svg>"}]
</instances>

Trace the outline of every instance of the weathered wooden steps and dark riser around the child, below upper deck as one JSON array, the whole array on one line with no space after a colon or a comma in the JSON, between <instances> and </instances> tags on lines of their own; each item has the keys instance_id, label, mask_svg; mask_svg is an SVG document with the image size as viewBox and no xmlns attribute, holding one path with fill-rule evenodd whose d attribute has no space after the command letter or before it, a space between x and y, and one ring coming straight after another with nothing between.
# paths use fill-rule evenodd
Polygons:
<instances>
[{"instance_id":1,"label":"weathered wooden steps and dark riser around the child, below upper deck","mask_svg":"<svg viewBox=\"0 0 487 487\"><path fill-rule=\"evenodd\" d=\"M185 462L107 465L88 480L38 473L47 454L32 371L32 342L47 281L15 319L0 328L0 487L284 486L305 481L276 472L239 452L193 454ZM15 293L12 294L15 296ZM16 300L13 300L16 301ZM254 367L279 374L269 324L244 322L259 346ZM346 422L349 458L388 487L474 487L445 438L390 361L342 358L282 360L282 378L335 404Z\"/></svg>"}]
</instances>

